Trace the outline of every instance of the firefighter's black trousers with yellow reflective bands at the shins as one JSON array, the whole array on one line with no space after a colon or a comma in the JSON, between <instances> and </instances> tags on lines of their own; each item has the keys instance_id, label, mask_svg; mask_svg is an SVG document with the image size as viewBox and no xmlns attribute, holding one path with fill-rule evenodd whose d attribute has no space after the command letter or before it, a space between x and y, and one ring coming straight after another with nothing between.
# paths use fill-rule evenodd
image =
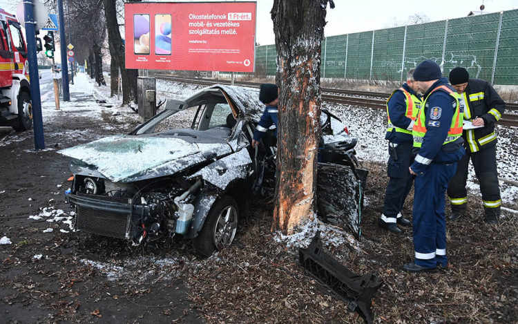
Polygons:
<instances>
[{"instance_id":1,"label":"firefighter's black trousers with yellow reflective bands at the shins","mask_svg":"<svg viewBox=\"0 0 518 324\"><path fill-rule=\"evenodd\" d=\"M459 161L457 172L450 180L450 183L448 183L448 199L452 206L452 212L466 213L466 208L468 207L466 180L468 180L470 159L475 175L477 175L480 182L486 220L498 220L501 198L498 184L496 145L474 153L466 151L466 155Z\"/></svg>"}]
</instances>

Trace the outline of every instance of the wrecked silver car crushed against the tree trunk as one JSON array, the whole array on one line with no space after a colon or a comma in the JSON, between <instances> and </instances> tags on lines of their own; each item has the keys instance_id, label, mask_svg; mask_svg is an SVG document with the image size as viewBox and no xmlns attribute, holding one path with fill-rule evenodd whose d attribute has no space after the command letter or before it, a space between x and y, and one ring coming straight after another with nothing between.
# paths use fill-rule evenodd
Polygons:
<instances>
[{"instance_id":1,"label":"wrecked silver car crushed against the tree trunk","mask_svg":"<svg viewBox=\"0 0 518 324\"><path fill-rule=\"evenodd\" d=\"M72 158L66 199L76 209L76 229L133 245L181 236L205 256L229 245L253 196L274 192L275 130L251 146L264 108L258 89L215 85L184 101L167 99L127 135L59 151ZM171 128L187 109L191 126ZM356 138L328 111L321 128L319 213L359 236L367 171L356 167Z\"/></svg>"}]
</instances>

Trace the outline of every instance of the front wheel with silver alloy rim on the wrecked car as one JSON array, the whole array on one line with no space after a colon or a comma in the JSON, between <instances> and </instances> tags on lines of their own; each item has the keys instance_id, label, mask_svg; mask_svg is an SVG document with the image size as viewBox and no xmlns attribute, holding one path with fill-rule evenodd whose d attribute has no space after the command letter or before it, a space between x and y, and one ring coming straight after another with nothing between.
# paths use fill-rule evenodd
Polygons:
<instances>
[{"instance_id":1,"label":"front wheel with silver alloy rim on the wrecked car","mask_svg":"<svg viewBox=\"0 0 518 324\"><path fill-rule=\"evenodd\" d=\"M230 245L238 227L238 204L230 196L222 196L214 202L202 230L193 238L194 249L208 258L214 251Z\"/></svg>"}]
</instances>

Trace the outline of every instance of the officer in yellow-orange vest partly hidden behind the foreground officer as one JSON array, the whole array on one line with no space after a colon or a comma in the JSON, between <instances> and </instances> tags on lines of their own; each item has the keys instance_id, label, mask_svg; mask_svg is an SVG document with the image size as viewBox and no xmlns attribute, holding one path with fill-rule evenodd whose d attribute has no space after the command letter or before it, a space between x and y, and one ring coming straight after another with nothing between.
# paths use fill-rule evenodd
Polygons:
<instances>
[{"instance_id":1,"label":"officer in yellow-orange vest partly hidden behind the foreground officer","mask_svg":"<svg viewBox=\"0 0 518 324\"><path fill-rule=\"evenodd\" d=\"M389 140L387 175L390 180L378 225L396 234L401 233L397 224L410 225L410 220L401 216L401 210L414 183L414 176L410 175L408 167L414 162L412 126L421 108L421 95L417 91L412 69L407 73L407 82L387 99L388 128L385 140Z\"/></svg>"}]
</instances>

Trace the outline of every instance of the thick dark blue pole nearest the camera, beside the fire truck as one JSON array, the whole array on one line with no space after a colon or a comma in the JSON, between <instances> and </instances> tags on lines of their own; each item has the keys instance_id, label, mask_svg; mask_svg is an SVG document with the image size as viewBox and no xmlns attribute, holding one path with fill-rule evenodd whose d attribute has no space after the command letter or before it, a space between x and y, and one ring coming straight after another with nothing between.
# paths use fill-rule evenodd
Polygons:
<instances>
[{"instance_id":1,"label":"thick dark blue pole nearest the camera, beside the fire truck","mask_svg":"<svg viewBox=\"0 0 518 324\"><path fill-rule=\"evenodd\" d=\"M32 12L32 0L23 1L27 54L29 61L30 97L32 101L32 122L34 124L35 149L45 149L43 117L41 116L41 97L39 93L38 59L36 54L35 21Z\"/></svg>"}]
</instances>

